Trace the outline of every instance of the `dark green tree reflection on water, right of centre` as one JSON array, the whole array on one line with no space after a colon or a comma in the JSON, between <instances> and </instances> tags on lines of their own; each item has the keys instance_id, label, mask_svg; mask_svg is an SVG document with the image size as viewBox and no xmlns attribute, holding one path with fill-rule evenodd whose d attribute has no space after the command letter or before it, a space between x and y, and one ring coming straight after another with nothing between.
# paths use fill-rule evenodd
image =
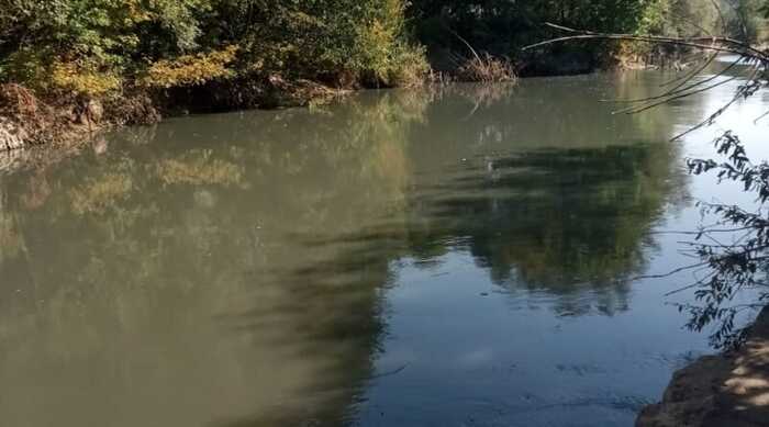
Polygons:
<instances>
[{"instance_id":1,"label":"dark green tree reflection on water, right of centre","mask_svg":"<svg viewBox=\"0 0 769 427\"><path fill-rule=\"evenodd\" d=\"M352 235L294 238L308 246L355 245L337 258L349 259L352 268L388 251L425 268L446 252L466 251L503 289L557 295L553 308L559 315L591 307L611 315L628 307L628 279L643 273L654 247L649 231L684 179L666 170L666 148L637 144L468 159L444 173L441 184L412 182L398 222L388 216ZM323 277L314 268L302 272Z\"/></svg>"}]
</instances>

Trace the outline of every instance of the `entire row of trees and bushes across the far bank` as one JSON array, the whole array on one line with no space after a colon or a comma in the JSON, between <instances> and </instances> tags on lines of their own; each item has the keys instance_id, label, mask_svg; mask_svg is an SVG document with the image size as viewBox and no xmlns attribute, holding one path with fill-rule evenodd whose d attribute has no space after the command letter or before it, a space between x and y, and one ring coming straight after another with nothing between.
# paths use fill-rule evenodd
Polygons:
<instances>
[{"instance_id":1,"label":"entire row of trees and bushes across the far bank","mask_svg":"<svg viewBox=\"0 0 769 427\"><path fill-rule=\"evenodd\" d=\"M754 37L734 16L757 15L757 1L0 0L0 83L88 99L223 81L408 86L428 70L426 49L515 58L553 34L544 22ZM577 49L610 50L592 46Z\"/></svg>"}]
</instances>

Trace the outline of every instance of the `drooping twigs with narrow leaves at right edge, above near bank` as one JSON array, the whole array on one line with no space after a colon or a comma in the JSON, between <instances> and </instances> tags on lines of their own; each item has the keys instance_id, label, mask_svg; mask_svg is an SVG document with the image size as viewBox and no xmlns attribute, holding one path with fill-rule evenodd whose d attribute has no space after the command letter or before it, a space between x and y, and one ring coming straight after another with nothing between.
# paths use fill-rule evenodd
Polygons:
<instances>
[{"instance_id":1,"label":"drooping twigs with narrow leaves at right edge, above near bank","mask_svg":"<svg viewBox=\"0 0 769 427\"><path fill-rule=\"evenodd\" d=\"M755 83L746 87L749 85ZM755 91L743 93L750 97ZM731 131L716 138L715 147L725 160L689 159L690 172L715 172L720 181L742 184L744 191L757 195L760 209L754 212L738 205L700 203L703 212L721 217L717 227L738 232L739 240L713 245L718 241L714 237L717 228L701 227L690 246L702 261L696 267L706 266L711 271L691 285L695 289L695 303L681 304L679 311L690 314L689 328L698 332L713 328L710 338L714 346L734 348L744 342L750 329L749 326L737 327L736 318L769 303L766 289L769 221L764 210L769 201L769 164L754 162L739 137ZM745 293L750 295L747 303L740 301Z\"/></svg>"}]
</instances>

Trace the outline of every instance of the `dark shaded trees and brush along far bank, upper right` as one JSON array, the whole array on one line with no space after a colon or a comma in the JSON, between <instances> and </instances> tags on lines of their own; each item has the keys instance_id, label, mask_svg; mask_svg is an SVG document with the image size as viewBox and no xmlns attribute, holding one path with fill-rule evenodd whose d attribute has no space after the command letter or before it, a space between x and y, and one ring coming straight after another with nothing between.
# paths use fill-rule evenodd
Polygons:
<instances>
[{"instance_id":1,"label":"dark shaded trees and brush along far bank, upper right","mask_svg":"<svg viewBox=\"0 0 769 427\"><path fill-rule=\"evenodd\" d=\"M751 38L759 32L762 0L413 0L415 34L439 70L450 53L478 52L510 57L526 75L586 72L626 63L648 63L678 54L649 44L589 41L554 44L533 54L521 47L562 33L545 22L605 33L692 36L728 34ZM724 27L725 26L725 27ZM669 50L669 49L668 49Z\"/></svg>"}]
</instances>

